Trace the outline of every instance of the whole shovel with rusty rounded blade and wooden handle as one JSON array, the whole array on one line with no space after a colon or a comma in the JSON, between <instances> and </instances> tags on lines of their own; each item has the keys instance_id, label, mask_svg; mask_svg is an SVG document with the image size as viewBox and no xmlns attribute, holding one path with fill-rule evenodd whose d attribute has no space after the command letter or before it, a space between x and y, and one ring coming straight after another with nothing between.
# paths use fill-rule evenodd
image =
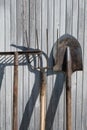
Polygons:
<instances>
[{"instance_id":1,"label":"whole shovel with rusty rounded blade and wooden handle","mask_svg":"<svg viewBox=\"0 0 87 130\"><path fill-rule=\"evenodd\" d=\"M83 68L79 42L71 35L63 35L53 47L53 59L53 70L66 74L66 130L72 130L71 75Z\"/></svg>"}]
</instances>

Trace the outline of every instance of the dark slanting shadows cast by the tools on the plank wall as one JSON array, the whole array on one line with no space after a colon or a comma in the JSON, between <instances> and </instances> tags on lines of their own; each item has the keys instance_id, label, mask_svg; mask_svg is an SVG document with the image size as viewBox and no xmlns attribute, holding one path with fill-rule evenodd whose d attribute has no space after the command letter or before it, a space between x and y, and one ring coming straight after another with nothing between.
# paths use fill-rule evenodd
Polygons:
<instances>
[{"instance_id":1,"label":"dark slanting shadows cast by the tools on the plank wall","mask_svg":"<svg viewBox=\"0 0 87 130\"><path fill-rule=\"evenodd\" d=\"M28 48L23 47L23 46L16 46L16 45L12 45L12 46L14 46L14 47L16 47L16 48L18 48L22 51L28 50ZM24 61L26 61L27 58L28 57L25 56ZM4 60L5 60L5 64L4 64ZM3 63L1 63L1 65L0 65L0 70L1 70L0 71L0 77L1 77L0 78L0 87L1 87L1 84L2 84L2 79L3 79L5 67L7 65L10 65L10 66L14 65L13 57L7 58L7 60L6 60L6 57L4 57L4 59L2 59L2 61L3 61ZM49 66L52 66L52 51L51 51L48 63L49 63ZM32 116L32 113L33 113L33 110L34 110L34 107L35 107L35 103L36 103L36 100L37 100L38 95L40 93L40 85L41 85L40 71L32 70L30 65L28 64L28 62L27 63L26 62L20 63L20 65L23 65L23 64L27 64L28 70L35 74L35 81L34 81L33 89L32 89L32 92L31 92L31 96L30 96L30 98L29 98L29 100L28 100L28 102L25 106L25 110L24 110L24 113L23 113L23 118L22 118L19 130L27 130L28 127L29 127L31 116ZM54 74L54 72L52 70L47 71L47 76L53 75L53 74ZM64 79L65 79L64 74L57 73L57 77L56 77L56 80L55 80L54 88L53 88L51 99L50 99L50 103L49 103L48 110L47 110L47 113L46 113L46 130L52 129L56 110L57 110L57 106L58 106L59 99L60 99L60 96L61 96L61 93L62 93L62 90L63 90Z\"/></svg>"}]
</instances>

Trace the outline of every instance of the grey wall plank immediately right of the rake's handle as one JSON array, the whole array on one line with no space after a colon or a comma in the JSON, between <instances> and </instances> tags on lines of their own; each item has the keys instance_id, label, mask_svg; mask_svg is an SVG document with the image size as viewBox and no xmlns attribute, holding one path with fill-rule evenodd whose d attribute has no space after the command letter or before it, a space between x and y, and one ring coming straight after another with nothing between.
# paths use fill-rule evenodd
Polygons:
<instances>
[{"instance_id":1,"label":"grey wall plank immediately right of the rake's handle","mask_svg":"<svg viewBox=\"0 0 87 130\"><path fill-rule=\"evenodd\" d=\"M17 49L19 51L23 51L23 1L16 1L16 42L13 44L16 45L13 49ZM13 24L12 24L13 25ZM18 48L19 46L19 48ZM22 59L23 56L19 56L19 59ZM23 66L20 66L19 60L19 73L18 73L18 128L22 125L22 117L23 117Z\"/></svg>"}]
</instances>

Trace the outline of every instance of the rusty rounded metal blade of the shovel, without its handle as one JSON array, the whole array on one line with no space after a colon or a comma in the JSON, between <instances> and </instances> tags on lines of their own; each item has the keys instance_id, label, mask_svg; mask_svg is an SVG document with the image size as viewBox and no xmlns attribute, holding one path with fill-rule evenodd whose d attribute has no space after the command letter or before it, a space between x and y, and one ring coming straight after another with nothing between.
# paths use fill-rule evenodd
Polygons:
<instances>
[{"instance_id":1,"label":"rusty rounded metal blade of the shovel, without its handle","mask_svg":"<svg viewBox=\"0 0 87 130\"><path fill-rule=\"evenodd\" d=\"M66 72L66 48L70 48L72 72L83 69L82 51L77 39L69 34L61 36L53 47L53 70Z\"/></svg>"}]
</instances>

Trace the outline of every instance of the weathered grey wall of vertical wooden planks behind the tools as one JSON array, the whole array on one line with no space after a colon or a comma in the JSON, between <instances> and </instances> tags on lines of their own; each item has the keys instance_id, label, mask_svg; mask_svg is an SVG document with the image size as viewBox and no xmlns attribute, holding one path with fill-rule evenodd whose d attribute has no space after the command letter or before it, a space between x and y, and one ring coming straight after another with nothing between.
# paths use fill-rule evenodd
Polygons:
<instances>
[{"instance_id":1,"label":"weathered grey wall of vertical wooden planks behind the tools","mask_svg":"<svg viewBox=\"0 0 87 130\"><path fill-rule=\"evenodd\" d=\"M81 43L83 72L72 75L72 129L87 130L87 1L86 0L0 0L0 51L39 47L48 55L59 36L69 33ZM14 46L12 46L12 44ZM22 57L20 57L22 59ZM62 73L47 76L46 130L65 130L65 85ZM19 130L39 130L40 73L19 66ZM13 57L0 57L0 130L12 130Z\"/></svg>"}]
</instances>

